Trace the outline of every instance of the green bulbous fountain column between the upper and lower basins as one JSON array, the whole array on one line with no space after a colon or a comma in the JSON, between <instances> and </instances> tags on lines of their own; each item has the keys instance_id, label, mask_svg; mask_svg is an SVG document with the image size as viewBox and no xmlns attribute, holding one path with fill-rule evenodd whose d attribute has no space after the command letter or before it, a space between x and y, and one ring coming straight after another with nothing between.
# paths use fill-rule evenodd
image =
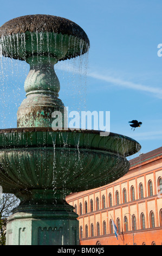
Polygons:
<instances>
[{"instance_id":1,"label":"green bulbous fountain column between the upper and lower basins","mask_svg":"<svg viewBox=\"0 0 162 256\"><path fill-rule=\"evenodd\" d=\"M64 105L58 98L60 82L54 71L58 60L50 56L32 56L26 61L30 64L24 84L27 98L18 108L17 127L51 127L54 111L62 113L63 123Z\"/></svg>"}]
</instances>

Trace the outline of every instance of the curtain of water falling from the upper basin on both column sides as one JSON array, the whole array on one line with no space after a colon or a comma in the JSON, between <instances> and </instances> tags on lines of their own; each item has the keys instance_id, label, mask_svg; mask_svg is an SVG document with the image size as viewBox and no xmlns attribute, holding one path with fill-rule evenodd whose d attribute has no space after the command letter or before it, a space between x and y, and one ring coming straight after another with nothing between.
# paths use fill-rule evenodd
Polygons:
<instances>
[{"instance_id":1,"label":"curtain of water falling from the upper basin on both column sides","mask_svg":"<svg viewBox=\"0 0 162 256\"><path fill-rule=\"evenodd\" d=\"M32 55L35 51L38 54L44 53L44 38L47 41L48 56L49 50L51 50L51 45L55 44L58 34L53 33L43 33L28 32L31 36L31 49ZM14 56L21 54L27 50L27 44L25 41L25 33L16 34L15 36L2 36L1 44L3 51L10 58L4 58L2 56L2 47L0 48L0 92L2 96L1 100L1 123L2 128L4 127L16 127L16 112L17 108L20 106L22 99L25 97L25 92L23 90L25 78L28 75L29 65L25 62L20 62L19 60L14 60ZM34 38L36 36L36 39ZM35 40L37 44L35 45ZM58 40L58 39L57 39ZM63 40L64 37L61 36L61 50L63 51ZM54 41L54 42L53 42ZM83 47L85 47L85 42L74 36L69 36L69 44L74 41L74 52L77 45L80 46L81 56L67 59L66 62L59 62L56 64L56 74L59 77L61 90L60 98L64 102L65 106L69 106L69 111L82 111L86 109L86 75L87 75L87 65L88 65L88 45L86 46L87 53L82 54ZM52 44L53 42L53 44ZM8 52L9 49L9 52ZM28 51L28 50L27 50ZM37 54L37 56L38 56ZM47 54L47 53L46 53ZM50 58L49 58L50 59ZM10 100L11 99L11 100ZM14 105L14 106L13 106ZM7 115L6 115L7 113ZM12 116L12 118L11 118ZM14 117L14 120L13 120Z\"/></svg>"}]
</instances>

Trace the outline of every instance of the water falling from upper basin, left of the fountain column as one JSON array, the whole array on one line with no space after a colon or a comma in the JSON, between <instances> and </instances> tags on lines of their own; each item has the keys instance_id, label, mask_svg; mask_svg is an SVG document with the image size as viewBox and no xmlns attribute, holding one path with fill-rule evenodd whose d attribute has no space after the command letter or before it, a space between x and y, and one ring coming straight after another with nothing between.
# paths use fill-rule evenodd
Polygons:
<instances>
[{"instance_id":1,"label":"water falling from upper basin, left of the fountain column","mask_svg":"<svg viewBox=\"0 0 162 256\"><path fill-rule=\"evenodd\" d=\"M0 56L1 129L16 127L16 112L25 97L24 80L28 65Z\"/></svg>"}]
</instances>

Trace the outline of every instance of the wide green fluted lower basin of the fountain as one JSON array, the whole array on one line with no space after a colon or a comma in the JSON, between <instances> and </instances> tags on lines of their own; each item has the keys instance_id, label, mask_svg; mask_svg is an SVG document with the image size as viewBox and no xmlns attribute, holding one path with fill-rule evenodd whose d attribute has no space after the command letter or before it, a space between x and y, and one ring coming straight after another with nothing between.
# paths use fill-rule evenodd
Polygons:
<instances>
[{"instance_id":1,"label":"wide green fluted lower basin of the fountain","mask_svg":"<svg viewBox=\"0 0 162 256\"><path fill-rule=\"evenodd\" d=\"M0 130L0 185L4 193L89 190L126 174L126 156L140 148L134 139L116 133L101 137L91 130Z\"/></svg>"}]
</instances>

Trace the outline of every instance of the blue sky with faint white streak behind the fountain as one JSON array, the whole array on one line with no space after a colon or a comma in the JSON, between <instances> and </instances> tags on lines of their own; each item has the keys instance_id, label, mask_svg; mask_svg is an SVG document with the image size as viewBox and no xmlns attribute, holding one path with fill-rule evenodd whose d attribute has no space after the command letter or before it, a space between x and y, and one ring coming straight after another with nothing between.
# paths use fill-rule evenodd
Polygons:
<instances>
[{"instance_id":1,"label":"blue sky with faint white streak behind the fountain","mask_svg":"<svg viewBox=\"0 0 162 256\"><path fill-rule=\"evenodd\" d=\"M87 78L80 77L76 86L74 70L59 63L60 98L73 110L80 101L83 110L110 111L111 132L136 139L141 153L147 153L161 147L162 141L162 57L157 55L162 44L161 10L160 0L8 0L1 2L0 26L28 14L61 16L81 26L90 40ZM3 60L4 77L0 69L1 127L16 127L29 66ZM132 119L142 121L135 131L128 124Z\"/></svg>"}]
</instances>

